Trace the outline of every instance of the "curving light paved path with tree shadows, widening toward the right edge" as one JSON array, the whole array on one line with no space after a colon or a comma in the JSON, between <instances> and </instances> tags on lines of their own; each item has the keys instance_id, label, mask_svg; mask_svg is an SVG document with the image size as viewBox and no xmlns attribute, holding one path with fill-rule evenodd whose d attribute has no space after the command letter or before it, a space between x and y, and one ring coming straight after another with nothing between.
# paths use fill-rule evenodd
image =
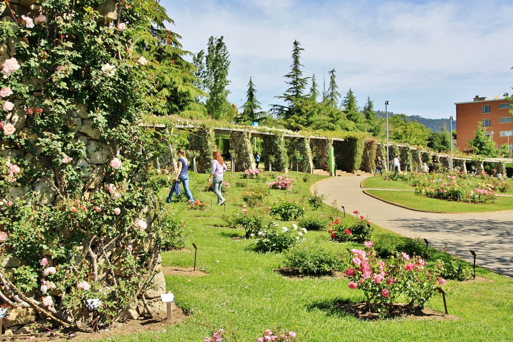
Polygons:
<instances>
[{"instance_id":1,"label":"curving light paved path with tree shadows, widening toward the right edge","mask_svg":"<svg viewBox=\"0 0 513 342\"><path fill-rule=\"evenodd\" d=\"M469 250L477 254L477 265L513 277L513 211L496 213L438 214L397 207L363 193L365 177L333 177L318 183L326 204L337 199L346 213L359 210L369 220L393 232L426 238L429 246L472 262ZM512 208L513 209L513 208Z\"/></svg>"}]
</instances>

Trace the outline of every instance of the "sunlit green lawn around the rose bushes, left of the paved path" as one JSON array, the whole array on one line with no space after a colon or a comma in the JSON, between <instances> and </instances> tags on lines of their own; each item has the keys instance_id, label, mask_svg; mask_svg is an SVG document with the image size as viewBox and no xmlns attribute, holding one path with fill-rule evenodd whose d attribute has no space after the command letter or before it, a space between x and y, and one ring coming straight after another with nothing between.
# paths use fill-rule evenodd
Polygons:
<instances>
[{"instance_id":1,"label":"sunlit green lawn around the rose bushes, left of the paved path","mask_svg":"<svg viewBox=\"0 0 513 342\"><path fill-rule=\"evenodd\" d=\"M291 177L302 178L295 172ZM225 180L230 181L230 174ZM226 194L226 214L234 214L242 209L240 194L253 187L265 186L248 180L246 188L233 186L239 182L238 175L232 177L231 188ZM205 174L191 175L193 195L200 197L199 190L204 187ZM298 194L288 193L304 201L310 196L310 186L317 177L310 177L311 183L297 182L292 190ZM321 179L323 177L319 177ZM377 177L375 177L377 178ZM271 180L270 178L268 179ZM309 179L310 180L310 179ZM244 180L245 182L245 180ZM205 183L206 184L206 183ZM299 187L298 187L299 185ZM162 198L167 195L162 191ZM401 192L402 193L402 192ZM405 192L406 193L406 192ZM272 190L265 199L269 206L284 192ZM201 200L209 203L215 198L211 192L201 192ZM461 317L459 320L421 321L410 318L367 322L354 318L334 308L333 301L349 300L361 302L362 292L348 288L347 279L330 277L307 277L290 279L274 272L281 266L282 256L275 253L254 253L251 240L233 239L243 236L244 231L226 227L224 207L212 207L206 211L187 211L185 203L172 203L170 208L176 212L191 231L186 246L192 249L192 243L198 246L198 266L208 273L204 277L166 276L167 289L176 298L176 305L192 313L192 317L177 326L170 326L167 332L143 333L139 335L110 338L115 342L132 341L203 341L209 330L195 321L205 323L201 317L208 319L214 326L225 329L233 328L241 341L254 341L262 336L264 329L294 330L298 336L306 337L303 341L469 341L511 339L513 330L513 287L511 279L484 269L478 269L478 275L491 279L490 283L461 283L448 281L447 305L451 315ZM305 202L306 215L336 216L329 206L322 210L311 211ZM290 223L280 223L290 227ZM373 239L397 236L376 227ZM320 244L330 249L344 252L349 244L337 244L329 241L325 231L305 234L307 244ZM163 265L189 267L193 264L193 253L185 251L163 252ZM427 307L443 311L440 295L435 295Z\"/></svg>"}]
</instances>

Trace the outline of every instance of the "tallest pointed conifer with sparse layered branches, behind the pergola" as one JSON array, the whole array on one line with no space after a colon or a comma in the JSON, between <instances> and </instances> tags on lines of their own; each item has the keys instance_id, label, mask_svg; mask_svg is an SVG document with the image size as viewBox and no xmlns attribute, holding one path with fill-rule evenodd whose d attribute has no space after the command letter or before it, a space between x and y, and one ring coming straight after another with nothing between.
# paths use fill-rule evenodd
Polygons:
<instances>
[{"instance_id":1,"label":"tallest pointed conifer with sparse layered branches, behind the pergola","mask_svg":"<svg viewBox=\"0 0 513 342\"><path fill-rule=\"evenodd\" d=\"M295 123L296 120L301 119L301 116L304 114L301 105L305 100L304 91L308 80L308 77L303 77L303 71L301 70L301 67L303 67L300 62L301 51L304 51L304 49L298 41L294 41L293 45L290 72L283 76L289 88L283 95L276 96L276 98L283 100L285 105L272 105L271 107L273 114L290 120L292 124Z\"/></svg>"}]
</instances>

